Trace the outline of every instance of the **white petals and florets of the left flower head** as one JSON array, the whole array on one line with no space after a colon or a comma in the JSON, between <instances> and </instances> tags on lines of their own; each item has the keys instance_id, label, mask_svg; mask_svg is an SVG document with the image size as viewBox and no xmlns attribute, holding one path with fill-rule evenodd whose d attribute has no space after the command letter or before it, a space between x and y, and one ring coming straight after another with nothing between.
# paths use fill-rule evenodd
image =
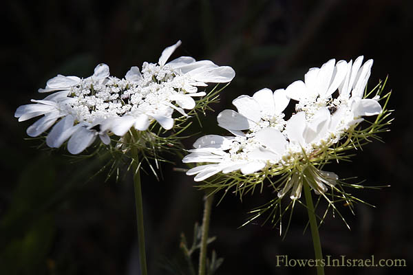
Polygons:
<instances>
[{"instance_id":1,"label":"white petals and florets of the left flower head","mask_svg":"<svg viewBox=\"0 0 413 275\"><path fill-rule=\"evenodd\" d=\"M97 136L109 144L109 135L122 137L132 126L145 131L156 121L169 130L174 110L187 116L184 109L195 107L193 97L206 94L198 92L198 87L227 83L235 76L231 67L189 56L167 63L180 43L167 47L158 64L145 62L142 72L131 67L122 79L110 76L105 64L99 64L88 78L58 75L47 81L45 89L39 89L52 94L19 107L14 116L24 121L44 115L28 127L28 135L37 137L53 126L47 145L59 148L68 140L67 150L72 154L81 153Z\"/></svg>"}]
</instances>

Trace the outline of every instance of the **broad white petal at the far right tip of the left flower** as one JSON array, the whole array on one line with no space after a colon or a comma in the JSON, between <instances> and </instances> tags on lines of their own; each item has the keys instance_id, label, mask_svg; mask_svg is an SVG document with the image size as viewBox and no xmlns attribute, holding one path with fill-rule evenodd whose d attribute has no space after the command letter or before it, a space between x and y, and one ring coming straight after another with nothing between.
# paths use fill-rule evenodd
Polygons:
<instances>
[{"instance_id":1,"label":"broad white petal at the far right tip of the left flower","mask_svg":"<svg viewBox=\"0 0 413 275\"><path fill-rule=\"evenodd\" d=\"M193 80L204 83L227 83L235 77L234 69L229 66L208 68L205 70L202 68L197 69L196 72L189 72Z\"/></svg>"}]
</instances>

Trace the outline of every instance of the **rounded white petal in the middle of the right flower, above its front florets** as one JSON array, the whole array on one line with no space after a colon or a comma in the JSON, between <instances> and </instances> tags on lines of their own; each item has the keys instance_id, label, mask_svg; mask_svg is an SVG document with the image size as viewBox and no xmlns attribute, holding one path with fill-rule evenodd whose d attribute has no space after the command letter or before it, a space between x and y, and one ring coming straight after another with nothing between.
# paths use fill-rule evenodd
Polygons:
<instances>
[{"instance_id":1,"label":"rounded white petal in the middle of the right flower, above its front florets","mask_svg":"<svg viewBox=\"0 0 413 275\"><path fill-rule=\"evenodd\" d=\"M278 155L283 155L288 145L286 137L274 128L264 128L258 131L255 134L255 139Z\"/></svg>"}]
</instances>

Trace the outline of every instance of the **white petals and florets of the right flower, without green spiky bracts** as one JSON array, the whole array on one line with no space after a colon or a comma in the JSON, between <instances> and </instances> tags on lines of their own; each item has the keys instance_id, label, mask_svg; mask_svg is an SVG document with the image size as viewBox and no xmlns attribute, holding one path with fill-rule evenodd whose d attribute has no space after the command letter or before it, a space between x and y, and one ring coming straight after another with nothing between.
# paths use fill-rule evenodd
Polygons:
<instances>
[{"instance_id":1,"label":"white petals and florets of the right flower, without green spiky bracts","mask_svg":"<svg viewBox=\"0 0 413 275\"><path fill-rule=\"evenodd\" d=\"M253 96L233 100L237 111L224 110L218 115L218 125L233 136L206 135L200 137L183 162L209 163L190 169L203 181L217 173L237 170L244 175L279 167L294 170L305 159L339 142L354 129L363 116L377 115L382 108L378 100L364 98L370 77L372 60L362 65L363 56L352 63L332 59L306 73L305 81L295 81L286 89L262 89ZM338 91L338 92L336 92ZM294 101L293 101L294 100ZM288 104L295 102L295 113L285 120ZM326 192L338 179L334 173L310 169L317 192ZM293 188L291 199L301 196L302 179L293 173L279 190L283 197ZM310 184L311 185L311 184Z\"/></svg>"}]
</instances>

